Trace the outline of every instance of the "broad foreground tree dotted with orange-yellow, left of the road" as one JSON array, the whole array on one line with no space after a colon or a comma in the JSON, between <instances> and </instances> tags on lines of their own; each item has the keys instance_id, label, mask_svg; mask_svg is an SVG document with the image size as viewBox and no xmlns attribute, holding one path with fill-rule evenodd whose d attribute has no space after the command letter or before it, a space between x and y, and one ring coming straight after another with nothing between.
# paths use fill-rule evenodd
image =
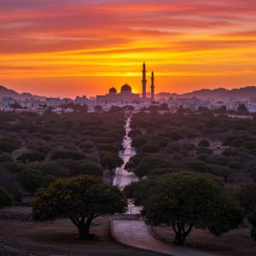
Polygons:
<instances>
[{"instance_id":1,"label":"broad foreground tree dotted with orange-yellow, left of the road","mask_svg":"<svg viewBox=\"0 0 256 256\"><path fill-rule=\"evenodd\" d=\"M69 218L79 230L80 239L87 240L94 218L125 213L128 210L124 193L108 185L100 177L77 176L58 179L47 189L38 191L32 201L34 221L55 221Z\"/></svg>"}]
</instances>

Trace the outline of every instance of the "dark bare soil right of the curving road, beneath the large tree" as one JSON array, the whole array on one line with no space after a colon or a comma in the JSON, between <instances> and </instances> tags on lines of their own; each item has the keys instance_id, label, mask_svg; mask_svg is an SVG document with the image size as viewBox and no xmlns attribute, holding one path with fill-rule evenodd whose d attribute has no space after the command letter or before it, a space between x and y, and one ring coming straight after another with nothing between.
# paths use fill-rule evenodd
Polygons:
<instances>
[{"instance_id":1,"label":"dark bare soil right of the curving road, beneath the large tree","mask_svg":"<svg viewBox=\"0 0 256 256\"><path fill-rule=\"evenodd\" d=\"M154 227L152 231L168 244L172 244L175 239L172 228ZM256 241L251 237L250 229L232 230L221 237L214 237L208 231L193 229L184 246L230 256L256 255Z\"/></svg>"}]
</instances>

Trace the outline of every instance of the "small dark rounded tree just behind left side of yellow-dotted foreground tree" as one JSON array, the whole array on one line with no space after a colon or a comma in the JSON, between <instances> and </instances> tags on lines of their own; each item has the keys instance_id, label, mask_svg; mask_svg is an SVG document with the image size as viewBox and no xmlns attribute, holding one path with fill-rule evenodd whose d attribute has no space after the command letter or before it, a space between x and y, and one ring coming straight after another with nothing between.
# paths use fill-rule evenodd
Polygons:
<instances>
[{"instance_id":1,"label":"small dark rounded tree just behind left side of yellow-dotted foreground tree","mask_svg":"<svg viewBox=\"0 0 256 256\"><path fill-rule=\"evenodd\" d=\"M32 196L44 184L44 176L38 170L23 170L19 178L23 189L30 192Z\"/></svg>"}]
</instances>

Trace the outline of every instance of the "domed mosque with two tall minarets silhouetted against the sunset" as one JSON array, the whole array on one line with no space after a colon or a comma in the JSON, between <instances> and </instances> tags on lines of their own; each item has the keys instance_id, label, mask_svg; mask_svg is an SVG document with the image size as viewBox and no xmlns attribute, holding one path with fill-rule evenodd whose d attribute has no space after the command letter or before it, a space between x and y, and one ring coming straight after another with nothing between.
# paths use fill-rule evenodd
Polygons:
<instances>
[{"instance_id":1,"label":"domed mosque with two tall minarets silhouetted against the sunset","mask_svg":"<svg viewBox=\"0 0 256 256\"><path fill-rule=\"evenodd\" d=\"M109 93L105 96L96 96L96 99L98 101L102 102L124 102L124 103L139 103L139 102L154 102L154 72L152 72L151 77L151 97L147 98L146 94L146 65L143 63L143 96L140 97L138 93L131 92L131 86L129 84L124 84L121 87L121 91L117 93L117 90L115 88L111 88L109 90Z\"/></svg>"}]
</instances>

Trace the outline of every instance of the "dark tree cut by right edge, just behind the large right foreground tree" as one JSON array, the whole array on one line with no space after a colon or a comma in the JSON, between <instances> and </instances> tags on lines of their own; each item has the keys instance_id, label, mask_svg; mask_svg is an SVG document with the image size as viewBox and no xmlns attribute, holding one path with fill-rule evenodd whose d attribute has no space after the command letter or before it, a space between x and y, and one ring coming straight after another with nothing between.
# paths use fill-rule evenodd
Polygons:
<instances>
[{"instance_id":1,"label":"dark tree cut by right edge, just behind the large right foreground tree","mask_svg":"<svg viewBox=\"0 0 256 256\"><path fill-rule=\"evenodd\" d=\"M240 189L235 191L235 198L239 201L241 207L245 209L246 216L253 212L256 206L256 184L252 182L241 183Z\"/></svg>"}]
</instances>

